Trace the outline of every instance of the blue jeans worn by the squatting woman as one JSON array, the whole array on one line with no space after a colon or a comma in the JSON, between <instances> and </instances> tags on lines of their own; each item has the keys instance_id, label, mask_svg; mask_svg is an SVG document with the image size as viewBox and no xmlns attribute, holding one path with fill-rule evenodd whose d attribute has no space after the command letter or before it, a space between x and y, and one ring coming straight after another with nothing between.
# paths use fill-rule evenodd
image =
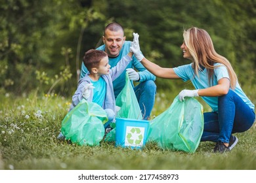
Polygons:
<instances>
[{"instance_id":1,"label":"blue jeans worn by the squatting woman","mask_svg":"<svg viewBox=\"0 0 256 183\"><path fill-rule=\"evenodd\" d=\"M228 143L232 133L247 131L255 121L255 112L232 90L218 98L219 112L205 112L201 141Z\"/></svg>"}]
</instances>

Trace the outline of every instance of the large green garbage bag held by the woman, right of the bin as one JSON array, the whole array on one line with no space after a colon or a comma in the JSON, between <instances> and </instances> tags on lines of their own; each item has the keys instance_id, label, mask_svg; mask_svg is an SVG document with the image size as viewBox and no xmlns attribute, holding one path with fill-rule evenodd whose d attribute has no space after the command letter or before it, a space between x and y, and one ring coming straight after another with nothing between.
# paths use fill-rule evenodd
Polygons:
<instances>
[{"instance_id":1,"label":"large green garbage bag held by the woman, right of the bin","mask_svg":"<svg viewBox=\"0 0 256 183\"><path fill-rule=\"evenodd\" d=\"M148 141L158 142L163 149L195 152L203 133L203 107L194 98L179 101L150 122Z\"/></svg>"}]
</instances>

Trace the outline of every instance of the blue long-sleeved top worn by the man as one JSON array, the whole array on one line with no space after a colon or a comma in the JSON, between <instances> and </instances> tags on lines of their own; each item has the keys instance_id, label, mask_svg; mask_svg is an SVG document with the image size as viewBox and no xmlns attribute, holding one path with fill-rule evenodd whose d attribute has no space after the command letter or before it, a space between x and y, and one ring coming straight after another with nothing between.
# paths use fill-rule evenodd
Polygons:
<instances>
[{"instance_id":1,"label":"blue long-sleeved top worn by the man","mask_svg":"<svg viewBox=\"0 0 256 183\"><path fill-rule=\"evenodd\" d=\"M121 58L123 58L130 52L130 46L131 46L131 41L125 41L123 43L123 47L120 50L119 56L117 56L116 58L108 58L109 64L111 67L115 67L117 65L117 62L120 61ZM105 51L105 44L96 48L96 50ZM140 63L140 61L138 61L135 58L135 56L133 56L131 62L129 63L129 65L127 65L126 69L127 68L132 68L132 69L136 68L139 71L139 75L140 75L139 82L143 82L145 80L156 80L156 76L152 75L152 73L146 70L145 67ZM123 71L123 73L121 73L121 75L118 78L116 78L116 80L113 81L115 97L117 97L117 95L121 92L121 90L125 86L126 69L125 71ZM87 72L88 70L82 62L80 78L83 78L83 76L85 76ZM131 82L131 84L133 85L133 82Z\"/></svg>"}]
</instances>

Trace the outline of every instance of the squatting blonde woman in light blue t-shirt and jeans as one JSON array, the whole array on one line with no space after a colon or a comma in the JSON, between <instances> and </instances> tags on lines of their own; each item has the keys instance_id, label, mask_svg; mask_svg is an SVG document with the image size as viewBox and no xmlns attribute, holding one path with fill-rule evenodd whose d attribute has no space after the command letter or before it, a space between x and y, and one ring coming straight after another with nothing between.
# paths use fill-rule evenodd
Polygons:
<instances>
[{"instance_id":1,"label":"squatting blonde woman in light blue t-shirt and jeans","mask_svg":"<svg viewBox=\"0 0 256 183\"><path fill-rule=\"evenodd\" d=\"M135 35L133 44L139 46L139 35ZM212 108L212 112L203 114L201 141L216 142L213 152L230 151L238 142L232 133L247 131L253 125L255 106L238 84L228 59L215 52L211 37L205 30L191 27L184 30L183 38L183 57L192 63L175 68L160 67L146 58L140 59L141 63L158 77L191 80L196 90L182 90L179 99L184 101L184 97L202 96ZM134 54L137 58L142 57L140 52Z\"/></svg>"}]
</instances>

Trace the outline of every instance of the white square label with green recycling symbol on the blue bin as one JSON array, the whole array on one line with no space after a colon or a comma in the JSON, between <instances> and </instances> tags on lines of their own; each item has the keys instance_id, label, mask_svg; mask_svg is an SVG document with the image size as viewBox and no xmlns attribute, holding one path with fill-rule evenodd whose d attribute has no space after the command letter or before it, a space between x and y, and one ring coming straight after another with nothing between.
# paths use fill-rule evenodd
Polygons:
<instances>
[{"instance_id":1,"label":"white square label with green recycling symbol on the blue bin","mask_svg":"<svg viewBox=\"0 0 256 183\"><path fill-rule=\"evenodd\" d=\"M127 127L126 145L141 146L143 144L144 127Z\"/></svg>"}]
</instances>

